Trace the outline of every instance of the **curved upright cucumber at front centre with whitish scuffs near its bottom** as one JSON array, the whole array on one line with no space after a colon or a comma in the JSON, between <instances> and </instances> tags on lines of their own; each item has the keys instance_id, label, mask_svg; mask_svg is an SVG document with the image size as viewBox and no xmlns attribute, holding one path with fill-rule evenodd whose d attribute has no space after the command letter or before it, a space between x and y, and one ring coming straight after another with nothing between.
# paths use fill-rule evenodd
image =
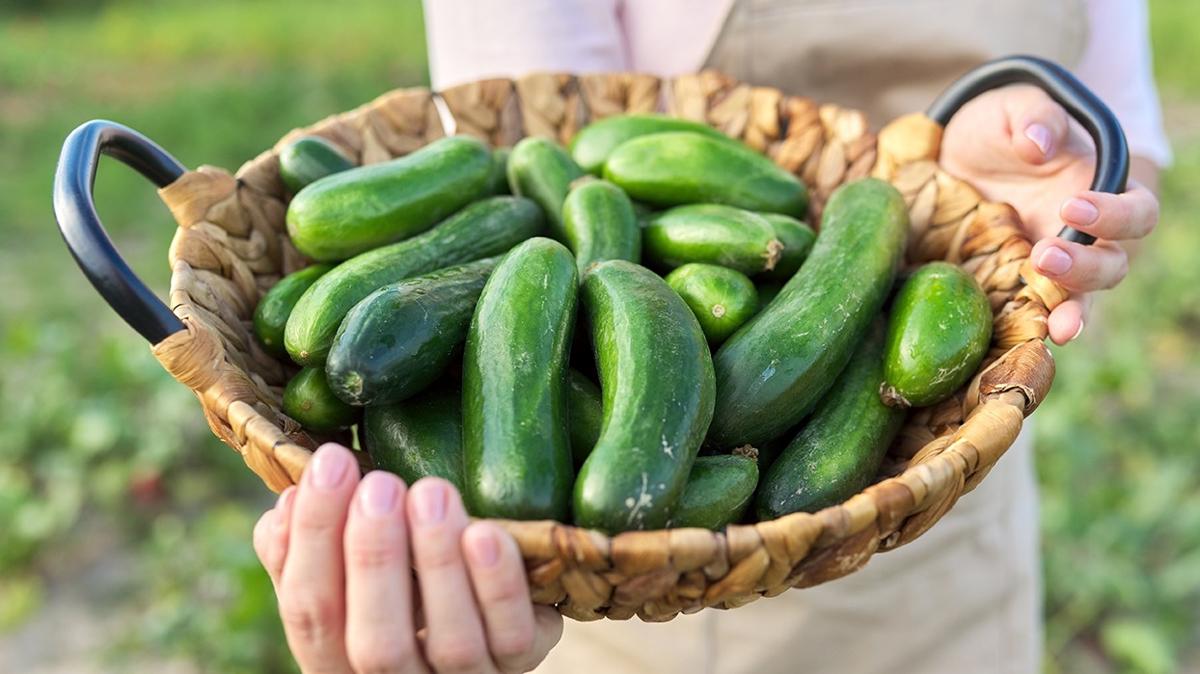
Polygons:
<instances>
[{"instance_id":1,"label":"curved upright cucumber at front centre with whitish scuffs near its bottom","mask_svg":"<svg viewBox=\"0 0 1200 674\"><path fill-rule=\"evenodd\" d=\"M713 362L696 317L646 267L608 260L583 277L604 427L575 481L575 522L658 529L683 494L713 415Z\"/></svg>"}]
</instances>

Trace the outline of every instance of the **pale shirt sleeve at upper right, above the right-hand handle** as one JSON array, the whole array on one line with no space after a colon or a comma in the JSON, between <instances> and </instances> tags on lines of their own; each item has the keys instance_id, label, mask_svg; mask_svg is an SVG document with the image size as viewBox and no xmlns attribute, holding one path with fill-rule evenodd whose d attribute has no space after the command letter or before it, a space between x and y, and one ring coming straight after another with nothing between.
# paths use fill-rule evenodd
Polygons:
<instances>
[{"instance_id":1,"label":"pale shirt sleeve at upper right, above the right-hand handle","mask_svg":"<svg viewBox=\"0 0 1200 674\"><path fill-rule=\"evenodd\" d=\"M1130 154L1169 166L1145 0L1088 0L1087 14L1087 46L1075 73L1121 120Z\"/></svg>"}]
</instances>

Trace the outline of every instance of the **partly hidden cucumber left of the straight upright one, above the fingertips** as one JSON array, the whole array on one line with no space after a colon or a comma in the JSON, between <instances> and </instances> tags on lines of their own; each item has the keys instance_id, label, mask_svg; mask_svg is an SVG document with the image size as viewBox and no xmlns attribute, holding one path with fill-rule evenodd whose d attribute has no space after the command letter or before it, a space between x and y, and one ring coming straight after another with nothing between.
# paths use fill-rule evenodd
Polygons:
<instances>
[{"instance_id":1,"label":"partly hidden cucumber left of the straight upright one, above the fingertips","mask_svg":"<svg viewBox=\"0 0 1200 674\"><path fill-rule=\"evenodd\" d=\"M412 485L443 477L462 491L462 392L434 386L400 404L362 413L362 444L374 464Z\"/></svg>"}]
</instances>

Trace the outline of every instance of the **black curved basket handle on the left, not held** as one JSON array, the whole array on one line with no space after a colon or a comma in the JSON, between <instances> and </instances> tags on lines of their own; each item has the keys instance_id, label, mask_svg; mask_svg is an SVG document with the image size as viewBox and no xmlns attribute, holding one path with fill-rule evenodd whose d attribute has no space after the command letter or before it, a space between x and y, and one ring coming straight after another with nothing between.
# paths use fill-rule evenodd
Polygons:
<instances>
[{"instance_id":1,"label":"black curved basket handle on the left, not held","mask_svg":"<svg viewBox=\"0 0 1200 674\"><path fill-rule=\"evenodd\" d=\"M54 218L76 264L125 323L157 344L184 330L184 324L130 269L100 223L92 187L101 155L137 169L158 187L170 185L187 169L132 128L92 120L67 136L54 171Z\"/></svg>"}]
</instances>

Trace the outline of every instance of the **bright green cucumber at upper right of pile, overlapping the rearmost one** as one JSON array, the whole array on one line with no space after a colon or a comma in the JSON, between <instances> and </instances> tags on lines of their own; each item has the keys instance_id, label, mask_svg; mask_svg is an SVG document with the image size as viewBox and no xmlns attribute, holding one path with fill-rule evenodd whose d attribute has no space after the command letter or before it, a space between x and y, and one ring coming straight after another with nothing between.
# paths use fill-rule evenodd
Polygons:
<instances>
[{"instance_id":1,"label":"bright green cucumber at upper right of pile, overlapping the rearmost one","mask_svg":"<svg viewBox=\"0 0 1200 674\"><path fill-rule=\"evenodd\" d=\"M803 217L808 189L750 148L691 132L655 133L623 143L604 177L631 199L673 206L718 203Z\"/></svg>"}]
</instances>

